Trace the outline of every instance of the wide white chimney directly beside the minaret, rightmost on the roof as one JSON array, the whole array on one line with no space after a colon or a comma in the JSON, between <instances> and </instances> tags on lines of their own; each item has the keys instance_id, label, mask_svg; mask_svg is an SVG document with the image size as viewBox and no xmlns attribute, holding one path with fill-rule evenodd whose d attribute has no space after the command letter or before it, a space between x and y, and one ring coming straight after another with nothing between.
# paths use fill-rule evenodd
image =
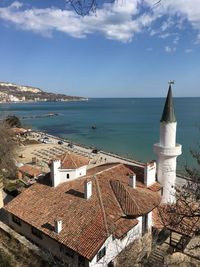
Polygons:
<instances>
[{"instance_id":1,"label":"wide white chimney directly beside the minaret, rightmost on the roof","mask_svg":"<svg viewBox=\"0 0 200 267\"><path fill-rule=\"evenodd\" d=\"M144 184L150 186L156 181L156 161L150 161L144 167Z\"/></svg>"}]
</instances>

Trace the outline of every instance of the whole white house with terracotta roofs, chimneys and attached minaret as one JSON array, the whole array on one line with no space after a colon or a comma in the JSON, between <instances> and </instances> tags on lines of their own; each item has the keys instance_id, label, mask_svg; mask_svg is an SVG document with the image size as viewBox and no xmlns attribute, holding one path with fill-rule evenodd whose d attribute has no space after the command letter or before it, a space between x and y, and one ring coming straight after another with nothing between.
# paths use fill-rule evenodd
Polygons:
<instances>
[{"instance_id":1,"label":"whole white house with terracotta roofs, chimneys and attached minaret","mask_svg":"<svg viewBox=\"0 0 200 267\"><path fill-rule=\"evenodd\" d=\"M66 266L111 266L127 245L151 232L161 199L175 201L181 145L171 85L154 151L157 164L141 166L107 163L88 169L87 158L69 152L53 159L49 174L4 207L9 225Z\"/></svg>"}]
</instances>

